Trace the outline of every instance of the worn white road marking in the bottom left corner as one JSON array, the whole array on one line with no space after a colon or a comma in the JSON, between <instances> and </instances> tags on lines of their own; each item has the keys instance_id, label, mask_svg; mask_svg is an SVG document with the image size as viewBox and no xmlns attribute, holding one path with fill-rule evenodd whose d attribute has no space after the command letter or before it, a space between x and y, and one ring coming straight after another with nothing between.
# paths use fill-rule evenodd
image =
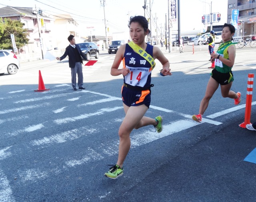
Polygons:
<instances>
[{"instance_id":1,"label":"worn white road marking in the bottom left corner","mask_svg":"<svg viewBox=\"0 0 256 202\"><path fill-rule=\"evenodd\" d=\"M0 201L15 202L15 199L12 196L11 186L2 169L0 169Z\"/></svg>"}]
</instances>

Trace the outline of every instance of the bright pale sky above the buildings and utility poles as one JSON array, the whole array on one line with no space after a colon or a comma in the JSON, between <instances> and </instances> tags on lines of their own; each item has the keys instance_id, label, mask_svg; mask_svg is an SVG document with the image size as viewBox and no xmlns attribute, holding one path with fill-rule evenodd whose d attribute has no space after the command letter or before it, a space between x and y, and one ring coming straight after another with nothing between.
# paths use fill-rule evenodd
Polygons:
<instances>
[{"instance_id":1,"label":"bright pale sky above the buildings and utility poles","mask_svg":"<svg viewBox=\"0 0 256 202\"><path fill-rule=\"evenodd\" d=\"M177 3L178 0L176 0ZM164 33L165 19L168 20L168 0L146 0L148 9L146 18L150 15L151 5L151 31L156 35L156 24L159 32ZM212 4L211 4L212 2ZM128 31L130 16L144 16L144 0L0 0L0 7L36 7L44 14L70 13L78 24L82 25L81 35L105 35L105 24L110 33ZM202 29L202 16L212 13L220 13L221 21L213 25L223 25L227 20L228 0L180 0L180 29L181 31ZM220 6L222 5L222 6ZM105 15L104 15L105 10ZM165 17L166 16L166 17ZM157 20L156 20L157 19ZM93 27L88 31L87 27ZM162 27L162 29L161 29ZM150 28L150 25L149 25ZM172 30L177 30L177 23L173 24Z\"/></svg>"}]
</instances>

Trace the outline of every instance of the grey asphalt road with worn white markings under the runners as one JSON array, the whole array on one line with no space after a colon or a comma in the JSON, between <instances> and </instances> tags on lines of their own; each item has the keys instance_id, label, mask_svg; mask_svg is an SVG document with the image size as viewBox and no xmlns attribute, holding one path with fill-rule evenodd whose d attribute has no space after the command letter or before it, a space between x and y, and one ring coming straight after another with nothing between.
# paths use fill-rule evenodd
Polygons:
<instances>
[{"instance_id":1,"label":"grey asphalt road with worn white markings under the runners","mask_svg":"<svg viewBox=\"0 0 256 202\"><path fill-rule=\"evenodd\" d=\"M16 75L0 76L0 202L253 202L256 201L256 131L244 122L247 77L256 49L237 49L232 90L216 91L201 124L192 121L204 96L211 64L207 46L162 51L172 76L152 73L146 113L161 115L164 129L132 131L124 175L104 177L118 155L124 118L122 76L110 75L114 54L84 67L86 90L73 91L68 61L22 62ZM38 72L46 88L38 89ZM252 122L256 121L255 90Z\"/></svg>"}]
</instances>

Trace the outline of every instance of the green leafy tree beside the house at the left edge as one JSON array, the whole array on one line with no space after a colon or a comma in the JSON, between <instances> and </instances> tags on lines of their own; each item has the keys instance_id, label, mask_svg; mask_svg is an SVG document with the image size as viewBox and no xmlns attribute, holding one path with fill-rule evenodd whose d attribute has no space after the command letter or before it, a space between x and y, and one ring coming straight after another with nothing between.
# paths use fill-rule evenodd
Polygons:
<instances>
[{"instance_id":1,"label":"green leafy tree beside the house at the left edge","mask_svg":"<svg viewBox=\"0 0 256 202\"><path fill-rule=\"evenodd\" d=\"M0 32L1 32L1 21L0 20ZM10 18L4 18L2 37L0 37L0 49L13 49L11 34L14 34L16 47L22 48L28 44L28 30L23 28L24 23L20 20L11 20Z\"/></svg>"}]
</instances>

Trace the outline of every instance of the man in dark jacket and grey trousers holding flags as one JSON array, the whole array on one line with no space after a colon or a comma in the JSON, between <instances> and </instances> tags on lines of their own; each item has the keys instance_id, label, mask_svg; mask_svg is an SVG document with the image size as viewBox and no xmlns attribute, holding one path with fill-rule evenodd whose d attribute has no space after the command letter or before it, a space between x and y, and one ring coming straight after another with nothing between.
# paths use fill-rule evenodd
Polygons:
<instances>
[{"instance_id":1,"label":"man in dark jacket and grey trousers holding flags","mask_svg":"<svg viewBox=\"0 0 256 202\"><path fill-rule=\"evenodd\" d=\"M68 64L71 68L71 82L73 90L76 89L76 74L78 76L78 88L79 89L85 89L83 87L83 72L82 72L82 58L81 56L87 60L86 55L81 51L80 47L76 45L76 40L74 35L69 35L68 41L70 42L70 45L66 47L65 53L61 57L56 57L57 60L63 60L68 55Z\"/></svg>"}]
</instances>

